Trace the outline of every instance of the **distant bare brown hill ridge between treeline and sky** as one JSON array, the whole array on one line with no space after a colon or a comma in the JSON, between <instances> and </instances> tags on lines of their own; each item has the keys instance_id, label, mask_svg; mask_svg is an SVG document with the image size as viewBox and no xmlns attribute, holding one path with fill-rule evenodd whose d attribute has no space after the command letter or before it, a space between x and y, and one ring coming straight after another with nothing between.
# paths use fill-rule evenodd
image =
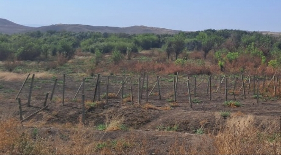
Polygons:
<instances>
[{"instance_id":1,"label":"distant bare brown hill ridge between treeline and sky","mask_svg":"<svg viewBox=\"0 0 281 155\"><path fill-rule=\"evenodd\" d=\"M0 33L3 34L14 34L14 33L25 33L32 31L46 32L48 30L56 31L70 31L70 32L107 32L107 33L127 33L127 34L176 34L180 30L171 30L166 28L148 27L148 26L130 26L130 27L110 27L110 26L90 26L81 24L54 24L49 26L41 27L30 27L11 22L10 20L0 18ZM188 31L191 32L191 31ZM263 34L272 34L275 36L281 35L281 32L269 32L260 31Z\"/></svg>"}]
</instances>

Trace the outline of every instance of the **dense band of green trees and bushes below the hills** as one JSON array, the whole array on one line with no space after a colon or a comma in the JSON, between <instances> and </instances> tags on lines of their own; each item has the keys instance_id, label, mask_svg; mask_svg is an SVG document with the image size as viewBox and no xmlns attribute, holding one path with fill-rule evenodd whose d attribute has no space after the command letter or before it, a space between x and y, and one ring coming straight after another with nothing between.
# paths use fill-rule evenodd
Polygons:
<instances>
[{"instance_id":1,"label":"dense band of green trees and bushes below the hills","mask_svg":"<svg viewBox=\"0 0 281 155\"><path fill-rule=\"evenodd\" d=\"M170 59L184 51L203 51L206 59L214 51L217 61L231 61L241 53L256 55L263 61L274 57L281 60L280 36L263 35L242 30L213 30L180 32L178 34L109 34L100 32L27 32L25 34L0 34L0 60L47 60L61 54L69 59L77 48L83 52L126 53L151 48L162 48Z\"/></svg>"}]
</instances>

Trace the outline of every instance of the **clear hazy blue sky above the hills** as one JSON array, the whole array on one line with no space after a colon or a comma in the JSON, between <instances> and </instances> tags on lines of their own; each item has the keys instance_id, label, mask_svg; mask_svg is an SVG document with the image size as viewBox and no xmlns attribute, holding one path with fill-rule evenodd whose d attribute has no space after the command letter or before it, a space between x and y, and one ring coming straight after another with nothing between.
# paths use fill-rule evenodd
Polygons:
<instances>
[{"instance_id":1,"label":"clear hazy blue sky above the hills","mask_svg":"<svg viewBox=\"0 0 281 155\"><path fill-rule=\"evenodd\" d=\"M183 31L281 31L281 0L0 0L0 18L27 26L144 25Z\"/></svg>"}]
</instances>

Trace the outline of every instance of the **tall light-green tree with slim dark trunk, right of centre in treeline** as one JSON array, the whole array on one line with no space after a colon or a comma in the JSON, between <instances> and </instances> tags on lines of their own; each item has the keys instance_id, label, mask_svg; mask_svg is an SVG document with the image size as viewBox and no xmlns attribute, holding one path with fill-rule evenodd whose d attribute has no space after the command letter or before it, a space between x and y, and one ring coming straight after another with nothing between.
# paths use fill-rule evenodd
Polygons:
<instances>
[{"instance_id":1,"label":"tall light-green tree with slim dark trunk, right of centre in treeline","mask_svg":"<svg viewBox=\"0 0 281 155\"><path fill-rule=\"evenodd\" d=\"M205 32L200 32L196 37L202 44L202 50L204 51L204 59L206 59L207 54L211 51L214 46L214 37L208 36Z\"/></svg>"}]
</instances>

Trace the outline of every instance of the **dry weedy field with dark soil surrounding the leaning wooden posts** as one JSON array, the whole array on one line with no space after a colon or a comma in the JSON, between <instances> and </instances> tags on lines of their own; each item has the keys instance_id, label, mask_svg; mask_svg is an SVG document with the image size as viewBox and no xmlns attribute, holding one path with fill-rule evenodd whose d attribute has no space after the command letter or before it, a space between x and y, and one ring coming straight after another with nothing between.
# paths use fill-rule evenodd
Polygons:
<instances>
[{"instance_id":1,"label":"dry weedy field with dark soil surrounding the leaning wooden posts","mask_svg":"<svg viewBox=\"0 0 281 155\"><path fill-rule=\"evenodd\" d=\"M278 82L280 78L271 81L272 75L267 75L263 87L264 77L260 76L258 88L257 84L255 86L253 84L253 75L250 75L251 82L248 87L248 73L243 73L243 80L246 80L245 99L243 89L239 90L242 86L240 74L226 75L221 83L220 92L216 92L220 73L211 75L211 85L207 90L209 75L188 75L179 72L176 101L174 101L173 77L176 76L176 72L171 71L168 74L148 72L146 73L148 93L157 82L157 76L161 76L159 80L161 99L156 85L146 103L146 81L144 81L143 95L141 102L138 103L138 77L141 77L143 82L142 70L121 73L108 65L109 69L106 71L95 69L91 76L87 57L90 55L76 56L57 69L47 71L44 71L46 64L22 62L22 67L16 68L12 73L0 72L1 154L281 153L279 100L281 89ZM134 60L140 61L144 58L149 57L136 55ZM15 98L28 73L31 75L19 95L23 117L26 118L43 107L46 93L49 93L46 104L48 107L20 123L18 100ZM35 79L31 106L28 107L33 73ZM101 101L97 101L97 96L96 101L93 102L98 73L101 82ZM63 74L65 74L64 105L62 105ZM106 103L108 77L109 92L108 103ZM116 94L122 85L122 80L126 77L128 79L124 84L122 99L121 92L117 97ZM132 78L133 104L129 77ZM86 108L84 124L81 121L82 90L73 99L83 78L85 78ZM55 79L57 84L54 96L50 100ZM190 92L192 108L188 99L188 79L189 88L192 90ZM259 103L257 103L257 89L259 89Z\"/></svg>"}]
</instances>

